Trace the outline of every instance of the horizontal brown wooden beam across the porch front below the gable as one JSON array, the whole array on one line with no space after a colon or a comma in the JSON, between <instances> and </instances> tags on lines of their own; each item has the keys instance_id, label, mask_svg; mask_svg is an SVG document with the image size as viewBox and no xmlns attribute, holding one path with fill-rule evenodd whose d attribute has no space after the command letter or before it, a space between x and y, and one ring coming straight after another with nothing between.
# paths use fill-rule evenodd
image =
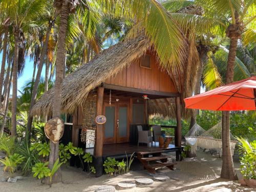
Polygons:
<instances>
[{"instance_id":1,"label":"horizontal brown wooden beam across the porch front below the gable","mask_svg":"<svg viewBox=\"0 0 256 192\"><path fill-rule=\"evenodd\" d=\"M106 83L103 83L103 87L105 89L112 89L112 90L126 91L126 92L133 92L133 93L141 93L141 94L148 94L148 95L158 95L158 96L164 96L164 97L178 97L178 96L180 96L179 93L169 93L169 92L162 92L162 91L128 88L128 87L116 86L114 84L106 84Z\"/></svg>"}]
</instances>

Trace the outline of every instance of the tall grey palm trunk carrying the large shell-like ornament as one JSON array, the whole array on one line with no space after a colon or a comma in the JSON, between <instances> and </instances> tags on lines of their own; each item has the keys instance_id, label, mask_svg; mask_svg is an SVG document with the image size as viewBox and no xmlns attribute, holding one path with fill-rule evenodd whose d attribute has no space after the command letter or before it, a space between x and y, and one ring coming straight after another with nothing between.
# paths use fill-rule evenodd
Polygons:
<instances>
[{"instance_id":1,"label":"tall grey palm trunk carrying the large shell-like ornament","mask_svg":"<svg viewBox=\"0 0 256 192\"><path fill-rule=\"evenodd\" d=\"M66 53L66 33L68 28L68 17L70 13L69 0L62 1L61 13L60 13L60 25L57 42L57 55L56 55L56 77L53 95L53 117L59 117L61 115L61 93L62 93L62 80L63 80L63 65L65 64ZM56 144L50 141L50 156L49 167L52 168L54 162L59 158L59 143ZM60 168L54 174L52 183L61 181ZM46 180L49 183L49 179Z\"/></svg>"}]
</instances>

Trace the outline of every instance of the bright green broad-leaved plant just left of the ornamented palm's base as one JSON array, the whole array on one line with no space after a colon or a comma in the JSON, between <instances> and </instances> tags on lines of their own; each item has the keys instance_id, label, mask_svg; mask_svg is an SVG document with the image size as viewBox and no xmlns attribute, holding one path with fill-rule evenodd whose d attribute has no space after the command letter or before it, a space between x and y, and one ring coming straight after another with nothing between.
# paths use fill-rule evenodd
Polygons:
<instances>
[{"instance_id":1,"label":"bright green broad-leaved plant just left of the ornamented palm's base","mask_svg":"<svg viewBox=\"0 0 256 192\"><path fill-rule=\"evenodd\" d=\"M48 164L49 162L45 162L45 163L36 163L33 167L32 167L32 173L33 177L37 177L38 179L42 179L49 177L51 174L51 170L48 168Z\"/></svg>"}]
</instances>

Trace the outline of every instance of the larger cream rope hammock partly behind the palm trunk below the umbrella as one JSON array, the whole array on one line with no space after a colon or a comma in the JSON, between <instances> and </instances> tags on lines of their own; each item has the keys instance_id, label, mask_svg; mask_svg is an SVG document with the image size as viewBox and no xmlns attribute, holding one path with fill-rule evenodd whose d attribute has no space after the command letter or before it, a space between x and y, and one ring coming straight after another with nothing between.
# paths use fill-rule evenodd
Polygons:
<instances>
[{"instance_id":1,"label":"larger cream rope hammock partly behind the palm trunk below the umbrella","mask_svg":"<svg viewBox=\"0 0 256 192\"><path fill-rule=\"evenodd\" d=\"M197 138L197 146L207 149L215 148L219 152L220 156L222 156L221 126L222 123L219 122L215 126L211 127L211 129L200 135ZM237 144L237 141L231 133L229 134L231 153L234 155L234 146Z\"/></svg>"}]
</instances>

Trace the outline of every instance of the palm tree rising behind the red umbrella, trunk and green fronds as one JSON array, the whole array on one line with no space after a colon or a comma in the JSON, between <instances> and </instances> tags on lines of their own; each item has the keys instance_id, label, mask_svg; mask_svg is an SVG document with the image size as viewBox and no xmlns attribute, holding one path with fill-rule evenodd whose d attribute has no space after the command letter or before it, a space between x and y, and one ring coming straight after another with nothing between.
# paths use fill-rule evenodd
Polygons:
<instances>
[{"instance_id":1,"label":"palm tree rising behind the red umbrella, trunk and green fronds","mask_svg":"<svg viewBox=\"0 0 256 192\"><path fill-rule=\"evenodd\" d=\"M174 5L174 1L167 1L166 6ZM255 42L255 2L254 1L223 1L223 0L196 0L196 1L175 1L178 5L195 4L201 6L204 10L203 16L195 16L184 13L172 13L174 19L182 28L186 30L197 30L198 32L213 32L219 35L226 35L229 38L229 52L226 69L225 83L233 81L234 63L236 60L236 51L238 39L241 38L244 44ZM182 3L181 3L182 2ZM171 6L172 7L172 6ZM189 24L189 25L188 25ZM186 27L186 25L188 25ZM207 31L206 31L207 30ZM224 31L225 30L225 31ZM221 177L225 179L237 179L236 171L233 167L233 161L230 150L229 138L229 111L222 115L222 171Z\"/></svg>"}]
</instances>

